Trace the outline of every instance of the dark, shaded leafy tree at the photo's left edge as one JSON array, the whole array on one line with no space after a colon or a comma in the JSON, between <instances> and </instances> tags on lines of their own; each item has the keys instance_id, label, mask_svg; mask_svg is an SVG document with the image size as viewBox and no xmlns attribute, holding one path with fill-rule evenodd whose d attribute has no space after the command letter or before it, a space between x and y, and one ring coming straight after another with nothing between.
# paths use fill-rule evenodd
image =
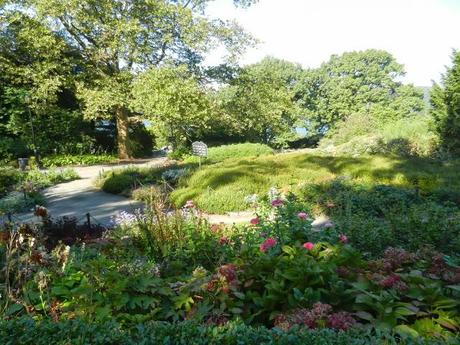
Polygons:
<instances>
[{"instance_id":1,"label":"dark, shaded leafy tree at the photo's left edge","mask_svg":"<svg viewBox=\"0 0 460 345\"><path fill-rule=\"evenodd\" d=\"M0 18L0 155L74 142L83 125L72 83L78 56L62 37L19 11Z\"/></svg>"}]
</instances>

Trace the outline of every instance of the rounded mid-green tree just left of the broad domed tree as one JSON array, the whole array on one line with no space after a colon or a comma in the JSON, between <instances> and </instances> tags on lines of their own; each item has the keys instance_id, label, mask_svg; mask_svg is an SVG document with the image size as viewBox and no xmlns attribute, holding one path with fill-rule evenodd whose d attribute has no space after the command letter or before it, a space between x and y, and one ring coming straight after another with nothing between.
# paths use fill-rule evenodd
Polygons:
<instances>
[{"instance_id":1,"label":"rounded mid-green tree just left of the broad domed tree","mask_svg":"<svg viewBox=\"0 0 460 345\"><path fill-rule=\"evenodd\" d=\"M246 140L272 145L294 134L300 112L295 85L301 71L296 64L270 57L242 68L219 92L232 130Z\"/></svg>"}]
</instances>

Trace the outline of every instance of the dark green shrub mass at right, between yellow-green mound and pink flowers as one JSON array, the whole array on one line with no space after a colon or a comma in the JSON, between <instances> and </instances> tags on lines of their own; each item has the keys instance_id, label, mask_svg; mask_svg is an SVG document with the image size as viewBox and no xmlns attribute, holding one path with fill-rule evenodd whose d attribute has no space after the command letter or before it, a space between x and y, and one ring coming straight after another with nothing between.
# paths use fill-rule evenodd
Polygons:
<instances>
[{"instance_id":1,"label":"dark green shrub mass at right, between yellow-green mound and pink flowers","mask_svg":"<svg viewBox=\"0 0 460 345\"><path fill-rule=\"evenodd\" d=\"M370 256L387 247L418 250L429 244L446 254L460 252L460 209L414 189L362 186L334 180L306 186L302 192L311 209L327 214L337 231Z\"/></svg>"}]
</instances>

